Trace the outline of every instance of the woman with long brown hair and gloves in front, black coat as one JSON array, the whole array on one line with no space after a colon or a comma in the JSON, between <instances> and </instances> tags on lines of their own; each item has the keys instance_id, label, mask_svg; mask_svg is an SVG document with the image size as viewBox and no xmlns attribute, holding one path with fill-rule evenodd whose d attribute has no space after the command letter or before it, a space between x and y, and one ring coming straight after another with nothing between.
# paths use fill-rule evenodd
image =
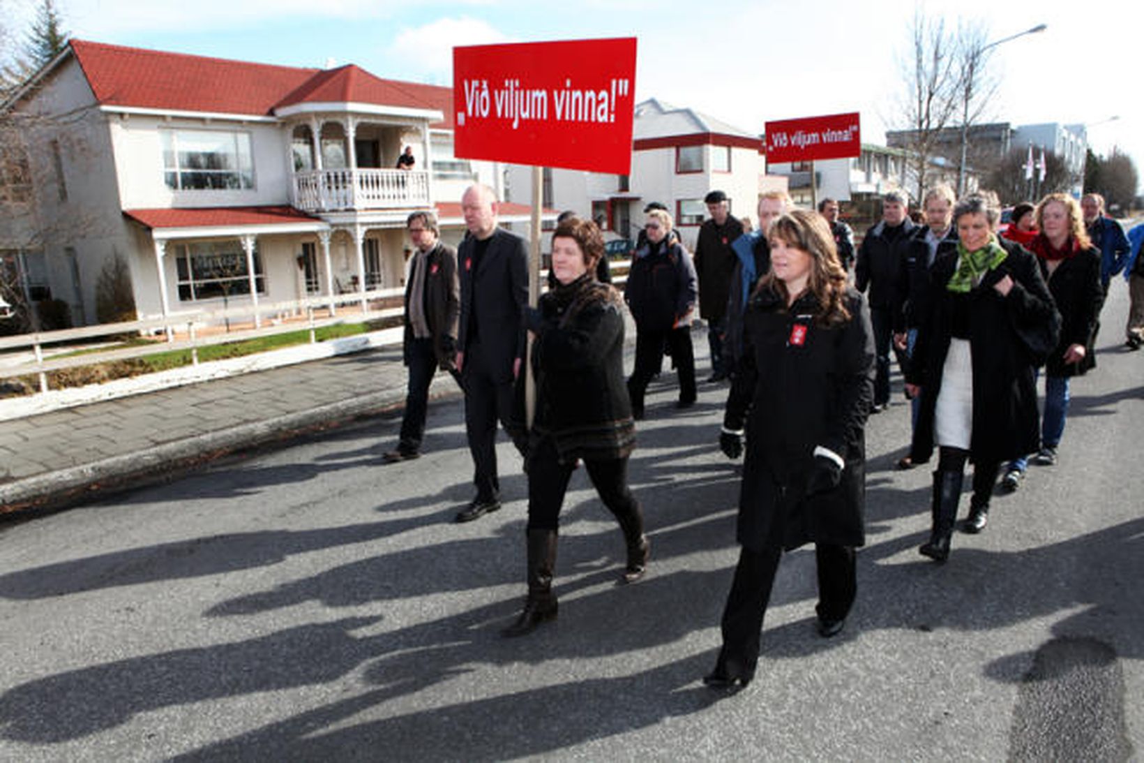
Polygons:
<instances>
[{"instance_id":1,"label":"woman with long brown hair and gloves in front, black coat","mask_svg":"<svg viewBox=\"0 0 1144 763\"><path fill-rule=\"evenodd\" d=\"M865 425L874 399L874 339L863 297L847 288L821 215L795 210L770 229L771 270L744 316L744 359L720 445L746 459L734 581L723 647L704 682L746 686L784 549L815 543L818 632L842 630L863 545ZM744 431L744 428L746 431Z\"/></svg>"}]
</instances>

